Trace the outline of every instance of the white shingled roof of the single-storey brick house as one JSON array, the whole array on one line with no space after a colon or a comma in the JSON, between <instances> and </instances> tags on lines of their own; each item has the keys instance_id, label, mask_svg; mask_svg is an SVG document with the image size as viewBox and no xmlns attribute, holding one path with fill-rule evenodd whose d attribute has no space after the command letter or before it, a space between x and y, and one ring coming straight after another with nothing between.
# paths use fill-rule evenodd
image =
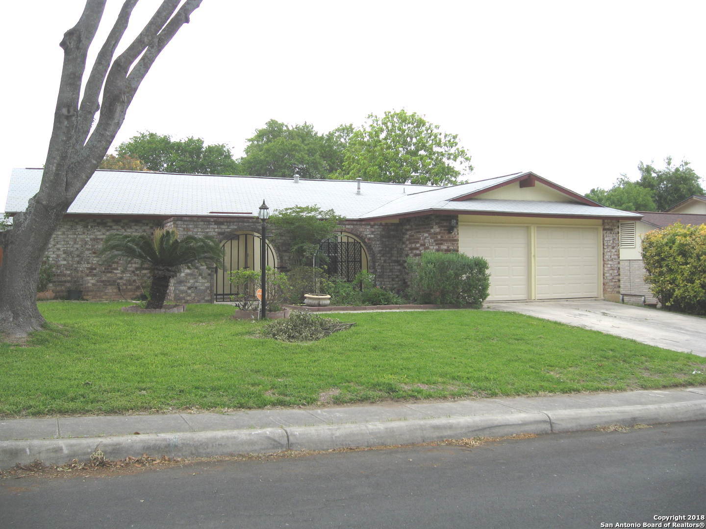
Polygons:
<instances>
[{"instance_id":1,"label":"white shingled roof of the single-storey brick house","mask_svg":"<svg viewBox=\"0 0 706 529\"><path fill-rule=\"evenodd\" d=\"M163 217L255 216L263 199L270 211L299 205L333 209L347 219L374 219L430 210L457 212L528 213L592 217L640 217L609 207L575 202L530 200L453 201L522 173L460 184L458 186L412 186L349 180L306 180L259 178L256 176L213 176L165 174L148 171L98 170L68 209L69 214L157 215ZM37 193L42 169L14 169L6 212L20 212Z\"/></svg>"}]
</instances>

